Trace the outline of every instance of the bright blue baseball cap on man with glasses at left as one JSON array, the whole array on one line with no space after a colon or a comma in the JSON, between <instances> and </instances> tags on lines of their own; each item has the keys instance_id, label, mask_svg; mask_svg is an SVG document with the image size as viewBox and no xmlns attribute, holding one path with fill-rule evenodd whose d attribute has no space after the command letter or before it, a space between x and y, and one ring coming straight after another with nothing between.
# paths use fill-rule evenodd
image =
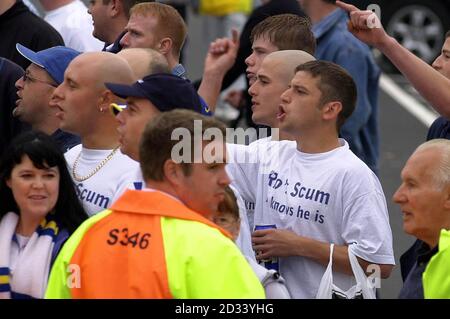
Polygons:
<instances>
[{"instance_id":1,"label":"bright blue baseball cap on man with glasses at left","mask_svg":"<svg viewBox=\"0 0 450 319\"><path fill-rule=\"evenodd\" d=\"M58 85L64 81L64 72L69 63L81 54L81 52L63 46L56 46L34 52L20 43L17 43L16 49L27 60L47 71Z\"/></svg>"}]
</instances>

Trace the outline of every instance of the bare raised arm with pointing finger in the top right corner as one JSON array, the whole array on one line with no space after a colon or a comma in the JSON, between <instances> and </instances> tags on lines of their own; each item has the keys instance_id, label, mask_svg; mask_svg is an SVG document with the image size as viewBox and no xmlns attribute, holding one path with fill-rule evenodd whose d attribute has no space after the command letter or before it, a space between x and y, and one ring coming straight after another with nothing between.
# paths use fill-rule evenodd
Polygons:
<instances>
[{"instance_id":1,"label":"bare raised arm with pointing finger in the top right corner","mask_svg":"<svg viewBox=\"0 0 450 319\"><path fill-rule=\"evenodd\" d=\"M342 1L336 4L350 15L349 31L379 49L437 112L450 118L450 80L389 36L374 12Z\"/></svg>"}]
</instances>

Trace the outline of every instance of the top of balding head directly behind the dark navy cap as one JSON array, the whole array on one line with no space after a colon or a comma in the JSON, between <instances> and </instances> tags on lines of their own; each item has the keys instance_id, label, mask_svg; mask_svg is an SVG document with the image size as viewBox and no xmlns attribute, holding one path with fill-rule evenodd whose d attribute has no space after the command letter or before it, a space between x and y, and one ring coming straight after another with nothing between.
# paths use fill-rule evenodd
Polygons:
<instances>
[{"instance_id":1,"label":"top of balding head directly behind the dark navy cap","mask_svg":"<svg viewBox=\"0 0 450 319\"><path fill-rule=\"evenodd\" d=\"M117 55L128 62L136 80L150 74L171 73L167 59L156 50L129 48L123 49Z\"/></svg>"}]
</instances>

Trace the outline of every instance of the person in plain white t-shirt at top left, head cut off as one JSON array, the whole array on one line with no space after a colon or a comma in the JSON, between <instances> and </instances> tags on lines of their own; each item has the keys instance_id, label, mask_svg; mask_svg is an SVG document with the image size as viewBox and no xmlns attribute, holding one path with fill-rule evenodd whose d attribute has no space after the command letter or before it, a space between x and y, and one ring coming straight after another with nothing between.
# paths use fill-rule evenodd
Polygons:
<instances>
[{"instance_id":1,"label":"person in plain white t-shirt at top left, head cut off","mask_svg":"<svg viewBox=\"0 0 450 319\"><path fill-rule=\"evenodd\" d=\"M94 38L92 17L80 0L39 0L45 10L44 20L64 39L67 47L80 52L101 51L103 43Z\"/></svg>"}]
</instances>

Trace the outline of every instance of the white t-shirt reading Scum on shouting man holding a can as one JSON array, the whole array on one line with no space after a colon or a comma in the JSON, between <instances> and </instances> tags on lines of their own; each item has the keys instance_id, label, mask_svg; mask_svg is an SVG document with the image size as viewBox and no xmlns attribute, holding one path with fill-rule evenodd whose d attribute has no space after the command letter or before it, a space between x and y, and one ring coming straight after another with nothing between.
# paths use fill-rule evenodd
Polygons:
<instances>
[{"instance_id":1,"label":"white t-shirt reading Scum on shouting man holding a can","mask_svg":"<svg viewBox=\"0 0 450 319\"><path fill-rule=\"evenodd\" d=\"M319 154L300 152L292 141L239 147L229 152L235 163L228 172L237 172L232 178L239 192L254 196L255 225L275 224L321 242L353 244L358 257L393 265L392 231L380 182L347 142L339 141L340 147ZM316 296L325 266L290 256L280 257L279 267L293 298ZM344 290L355 284L352 276L333 276Z\"/></svg>"}]
</instances>

